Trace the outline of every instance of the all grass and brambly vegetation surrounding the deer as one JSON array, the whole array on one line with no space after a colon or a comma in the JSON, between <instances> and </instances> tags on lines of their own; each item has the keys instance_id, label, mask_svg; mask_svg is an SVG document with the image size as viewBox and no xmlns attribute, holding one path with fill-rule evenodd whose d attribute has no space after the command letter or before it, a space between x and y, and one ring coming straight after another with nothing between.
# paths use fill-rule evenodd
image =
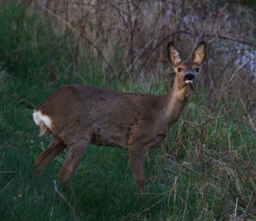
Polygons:
<instances>
[{"instance_id":1,"label":"all grass and brambly vegetation surrounding the deer","mask_svg":"<svg viewBox=\"0 0 256 221\"><path fill-rule=\"evenodd\" d=\"M255 220L253 11L241 1L114 2L0 1L1 220ZM38 137L36 105L74 83L163 95L170 40L187 57L205 40L209 56L168 141L145 156L145 204L120 148L88 146L67 192L57 178L67 151L33 176L51 141Z\"/></svg>"}]
</instances>

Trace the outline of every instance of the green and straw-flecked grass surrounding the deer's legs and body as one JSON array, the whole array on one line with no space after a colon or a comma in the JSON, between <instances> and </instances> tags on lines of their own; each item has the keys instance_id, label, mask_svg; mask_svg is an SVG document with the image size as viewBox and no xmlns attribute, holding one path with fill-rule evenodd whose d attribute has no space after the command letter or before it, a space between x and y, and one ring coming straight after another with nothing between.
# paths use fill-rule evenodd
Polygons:
<instances>
[{"instance_id":1,"label":"green and straw-flecked grass surrounding the deer's legs and body","mask_svg":"<svg viewBox=\"0 0 256 221\"><path fill-rule=\"evenodd\" d=\"M77 75L118 90L148 93L150 86L119 84L92 54L79 52L82 65L74 64L69 36L45 31L47 18L21 7L28 5L6 1L0 9L1 220L73 220L54 180L78 220L255 220L253 123L243 107L228 112L219 101L209 107L202 84L164 147L145 156L145 204L138 200L131 165L126 172L127 151L120 148L89 145L67 192L57 178L66 151L41 179L33 176L35 159L51 141L38 137L33 109L58 86L84 83Z\"/></svg>"}]
</instances>

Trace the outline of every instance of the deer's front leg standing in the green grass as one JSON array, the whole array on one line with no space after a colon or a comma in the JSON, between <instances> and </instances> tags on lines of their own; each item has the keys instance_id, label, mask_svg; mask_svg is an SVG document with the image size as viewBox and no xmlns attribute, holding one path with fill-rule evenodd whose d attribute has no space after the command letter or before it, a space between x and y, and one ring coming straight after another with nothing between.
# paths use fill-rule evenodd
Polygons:
<instances>
[{"instance_id":1,"label":"deer's front leg standing in the green grass","mask_svg":"<svg viewBox=\"0 0 256 221\"><path fill-rule=\"evenodd\" d=\"M138 188L138 193L140 194L140 202L143 202L144 193L144 172L143 172L143 158L145 155L145 149L143 148L128 148L130 162L132 165L132 170L134 173L134 179Z\"/></svg>"}]
</instances>

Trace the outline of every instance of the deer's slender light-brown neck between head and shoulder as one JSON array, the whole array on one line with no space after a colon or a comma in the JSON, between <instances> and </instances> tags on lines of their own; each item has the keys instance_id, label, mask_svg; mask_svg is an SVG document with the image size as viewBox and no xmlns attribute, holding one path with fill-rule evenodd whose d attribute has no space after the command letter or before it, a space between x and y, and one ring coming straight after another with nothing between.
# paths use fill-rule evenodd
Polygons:
<instances>
[{"instance_id":1,"label":"deer's slender light-brown neck between head and shoulder","mask_svg":"<svg viewBox=\"0 0 256 221\"><path fill-rule=\"evenodd\" d=\"M168 120L168 129L180 118L183 110L188 104L192 91L189 87L177 90L177 81L173 84L172 90L166 95L167 105L165 108Z\"/></svg>"}]
</instances>

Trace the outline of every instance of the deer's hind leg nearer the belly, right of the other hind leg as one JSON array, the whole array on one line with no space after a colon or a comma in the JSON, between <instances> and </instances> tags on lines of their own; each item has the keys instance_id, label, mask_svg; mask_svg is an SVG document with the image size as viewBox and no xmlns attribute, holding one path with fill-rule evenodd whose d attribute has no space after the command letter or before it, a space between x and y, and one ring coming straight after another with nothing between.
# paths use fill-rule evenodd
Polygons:
<instances>
[{"instance_id":1,"label":"deer's hind leg nearer the belly, right of the other hind leg","mask_svg":"<svg viewBox=\"0 0 256 221\"><path fill-rule=\"evenodd\" d=\"M71 187L72 179L76 171L77 165L81 161L81 158L84 155L84 151L90 141L91 138L84 137L83 139L80 139L79 141L68 145L70 146L70 148L68 150L67 158L58 174L58 178L60 179L60 183L63 185L64 189L68 189Z\"/></svg>"}]
</instances>

